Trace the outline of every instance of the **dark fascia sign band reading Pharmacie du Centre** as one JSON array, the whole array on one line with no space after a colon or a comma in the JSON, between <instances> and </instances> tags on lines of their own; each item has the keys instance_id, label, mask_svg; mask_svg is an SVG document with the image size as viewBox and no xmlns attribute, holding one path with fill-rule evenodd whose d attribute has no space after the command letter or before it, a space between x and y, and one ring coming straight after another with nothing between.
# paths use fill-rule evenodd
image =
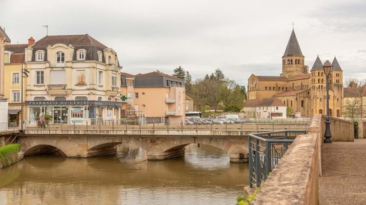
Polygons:
<instances>
[{"instance_id":1,"label":"dark fascia sign band reading Pharmacie du Centre","mask_svg":"<svg viewBox=\"0 0 366 205\"><path fill-rule=\"evenodd\" d=\"M25 105L31 106L61 106L61 105L101 105L101 106L122 106L122 102L112 101L25 101Z\"/></svg>"}]
</instances>

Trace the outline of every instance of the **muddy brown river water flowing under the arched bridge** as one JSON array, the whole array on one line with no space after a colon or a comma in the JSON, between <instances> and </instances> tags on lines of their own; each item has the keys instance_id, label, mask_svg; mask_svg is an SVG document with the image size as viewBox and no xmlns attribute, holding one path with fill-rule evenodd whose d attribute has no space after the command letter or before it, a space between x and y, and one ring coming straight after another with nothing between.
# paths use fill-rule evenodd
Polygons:
<instances>
[{"instance_id":1,"label":"muddy brown river water flowing under the arched bridge","mask_svg":"<svg viewBox=\"0 0 366 205\"><path fill-rule=\"evenodd\" d=\"M248 184L248 164L229 163L212 146L191 144L165 161L123 150L89 159L27 156L0 170L0 205L233 205Z\"/></svg>"}]
</instances>

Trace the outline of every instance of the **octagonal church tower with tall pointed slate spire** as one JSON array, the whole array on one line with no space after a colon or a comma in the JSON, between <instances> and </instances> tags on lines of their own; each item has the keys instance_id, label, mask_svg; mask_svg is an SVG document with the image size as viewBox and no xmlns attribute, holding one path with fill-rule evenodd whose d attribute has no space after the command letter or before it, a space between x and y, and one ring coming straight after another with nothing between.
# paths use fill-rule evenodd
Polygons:
<instances>
[{"instance_id":1,"label":"octagonal church tower with tall pointed slate spire","mask_svg":"<svg viewBox=\"0 0 366 205\"><path fill-rule=\"evenodd\" d=\"M299 42L297 41L295 31L292 29L290 39L288 40L285 54L282 57L281 76L290 78L292 76L308 73L308 66L304 64L305 56L301 52Z\"/></svg>"}]
</instances>

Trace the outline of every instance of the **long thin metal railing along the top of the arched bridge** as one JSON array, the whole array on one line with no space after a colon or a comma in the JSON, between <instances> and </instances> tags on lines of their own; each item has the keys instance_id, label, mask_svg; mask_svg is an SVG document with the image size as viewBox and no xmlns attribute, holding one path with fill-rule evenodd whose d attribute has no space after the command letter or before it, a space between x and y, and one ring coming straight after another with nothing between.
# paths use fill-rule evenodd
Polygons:
<instances>
[{"instance_id":1,"label":"long thin metal railing along the top of the arched bridge","mask_svg":"<svg viewBox=\"0 0 366 205\"><path fill-rule=\"evenodd\" d=\"M162 119L121 119L121 120L53 120L28 121L27 130L275 130L300 128L306 126L306 120L227 120L227 119L196 119L196 120L162 120ZM291 127L292 126L292 127Z\"/></svg>"}]
</instances>

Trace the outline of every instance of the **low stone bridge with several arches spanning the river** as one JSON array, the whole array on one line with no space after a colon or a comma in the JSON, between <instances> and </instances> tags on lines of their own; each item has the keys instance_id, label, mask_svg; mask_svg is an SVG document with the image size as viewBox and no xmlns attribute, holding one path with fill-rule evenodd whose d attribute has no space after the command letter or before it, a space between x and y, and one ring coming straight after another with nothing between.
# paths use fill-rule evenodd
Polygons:
<instances>
[{"instance_id":1,"label":"low stone bridge with several arches spanning the river","mask_svg":"<svg viewBox=\"0 0 366 205\"><path fill-rule=\"evenodd\" d=\"M288 126L288 125L287 125ZM230 162L247 162L249 133L286 129L286 125L227 126L51 126L25 129L18 136L25 155L59 151L67 157L94 157L115 153L126 143L146 150L148 160L164 160L184 154L191 143L225 150ZM291 128L304 128L292 125Z\"/></svg>"}]
</instances>

